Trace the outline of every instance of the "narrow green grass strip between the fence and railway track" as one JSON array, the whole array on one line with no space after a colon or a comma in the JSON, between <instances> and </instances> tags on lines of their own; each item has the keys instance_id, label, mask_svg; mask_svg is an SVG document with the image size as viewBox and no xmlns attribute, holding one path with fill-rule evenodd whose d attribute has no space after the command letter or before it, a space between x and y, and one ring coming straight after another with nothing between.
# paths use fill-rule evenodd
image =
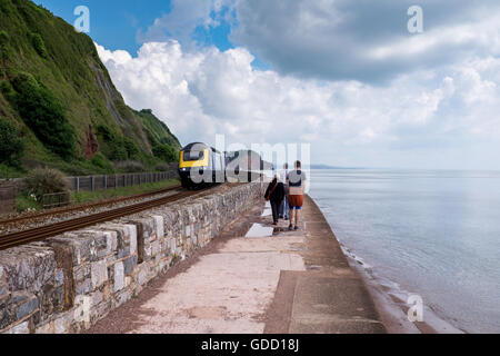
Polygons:
<instances>
[{"instance_id":1,"label":"narrow green grass strip between the fence and railway track","mask_svg":"<svg viewBox=\"0 0 500 356\"><path fill-rule=\"evenodd\" d=\"M179 185L178 179L169 179L159 182L144 184L141 186L124 187L118 189L101 189L96 191L78 191L71 194L71 199L76 204L93 202L118 197L133 196L137 194L154 191Z\"/></svg>"}]
</instances>

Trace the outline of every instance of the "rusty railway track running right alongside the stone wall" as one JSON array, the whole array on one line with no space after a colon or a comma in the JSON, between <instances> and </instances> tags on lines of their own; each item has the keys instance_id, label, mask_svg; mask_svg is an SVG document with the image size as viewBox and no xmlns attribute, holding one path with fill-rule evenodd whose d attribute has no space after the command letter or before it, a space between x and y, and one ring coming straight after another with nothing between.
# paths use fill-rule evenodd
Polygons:
<instances>
[{"instance_id":1,"label":"rusty railway track running right alongside the stone wall","mask_svg":"<svg viewBox=\"0 0 500 356\"><path fill-rule=\"evenodd\" d=\"M176 188L172 188L171 190L173 189ZM87 215L70 220L44 225L33 229L27 229L18 233L3 235L0 236L0 250L30 243L41 241L49 237L61 235L63 233L73 231L89 226L93 226L96 224L114 220L117 218L133 215L143 210L162 206L167 202L177 201L179 199L188 198L194 195L200 195L200 191L180 191L178 194L162 197L159 199L141 201L138 204L120 207L108 211Z\"/></svg>"}]
</instances>

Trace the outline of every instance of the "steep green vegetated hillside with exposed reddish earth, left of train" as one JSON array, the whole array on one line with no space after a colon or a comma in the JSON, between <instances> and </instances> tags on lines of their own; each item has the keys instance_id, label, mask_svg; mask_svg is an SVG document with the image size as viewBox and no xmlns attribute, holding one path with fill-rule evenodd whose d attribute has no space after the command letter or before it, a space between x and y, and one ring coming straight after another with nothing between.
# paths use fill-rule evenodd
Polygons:
<instances>
[{"instance_id":1,"label":"steep green vegetated hillside with exposed reddish earth, left of train","mask_svg":"<svg viewBox=\"0 0 500 356\"><path fill-rule=\"evenodd\" d=\"M0 178L154 170L181 148L151 110L124 103L90 37L29 0L0 0L0 117L24 148L0 160Z\"/></svg>"}]
</instances>

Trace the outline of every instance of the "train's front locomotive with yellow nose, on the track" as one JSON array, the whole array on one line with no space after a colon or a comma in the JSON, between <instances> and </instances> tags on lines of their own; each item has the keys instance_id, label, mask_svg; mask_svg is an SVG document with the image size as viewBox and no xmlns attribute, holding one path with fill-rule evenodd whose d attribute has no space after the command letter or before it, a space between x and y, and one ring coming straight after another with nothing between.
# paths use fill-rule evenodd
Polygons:
<instances>
[{"instance_id":1,"label":"train's front locomotive with yellow nose, on the track","mask_svg":"<svg viewBox=\"0 0 500 356\"><path fill-rule=\"evenodd\" d=\"M226 152L202 142L193 142L180 150L179 176L186 189L226 182Z\"/></svg>"}]
</instances>

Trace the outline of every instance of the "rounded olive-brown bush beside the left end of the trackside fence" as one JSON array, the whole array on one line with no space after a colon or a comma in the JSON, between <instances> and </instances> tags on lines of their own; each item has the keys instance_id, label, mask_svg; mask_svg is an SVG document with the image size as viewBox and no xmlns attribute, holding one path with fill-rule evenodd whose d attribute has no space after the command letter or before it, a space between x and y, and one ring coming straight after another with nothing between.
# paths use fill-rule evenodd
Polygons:
<instances>
[{"instance_id":1,"label":"rounded olive-brown bush beside the left end of the trackside fence","mask_svg":"<svg viewBox=\"0 0 500 356\"><path fill-rule=\"evenodd\" d=\"M69 187L66 176L57 169L37 168L24 179L22 188L26 196L34 196L41 201L46 194L68 192Z\"/></svg>"}]
</instances>

